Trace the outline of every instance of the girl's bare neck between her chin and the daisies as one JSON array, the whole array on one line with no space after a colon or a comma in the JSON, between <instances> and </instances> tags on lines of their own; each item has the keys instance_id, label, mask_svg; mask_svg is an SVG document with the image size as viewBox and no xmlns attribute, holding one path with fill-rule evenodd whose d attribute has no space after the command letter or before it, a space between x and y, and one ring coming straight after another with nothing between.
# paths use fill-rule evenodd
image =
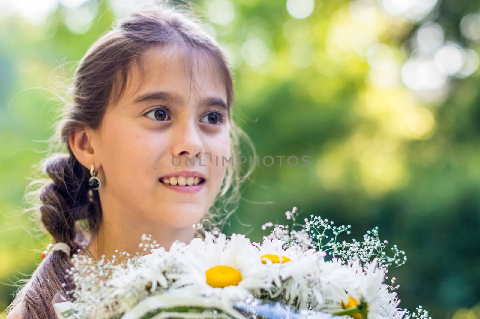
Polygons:
<instances>
[{"instance_id":1,"label":"girl's bare neck between her chin and the daisies","mask_svg":"<svg viewBox=\"0 0 480 319\"><path fill-rule=\"evenodd\" d=\"M144 253L143 248L139 247L141 237L145 234L151 236L150 243L156 240L156 244L169 250L175 240L184 243L190 243L194 237L192 226L185 228L171 228L158 224L140 225L134 223L119 224L118 220L111 223L108 220L102 220L97 235L92 238L87 245L88 251L95 260L100 260L105 255L105 260L112 260L116 256L116 263L125 260L121 252L126 251L131 257L136 252ZM117 251L115 251L117 250Z\"/></svg>"}]
</instances>

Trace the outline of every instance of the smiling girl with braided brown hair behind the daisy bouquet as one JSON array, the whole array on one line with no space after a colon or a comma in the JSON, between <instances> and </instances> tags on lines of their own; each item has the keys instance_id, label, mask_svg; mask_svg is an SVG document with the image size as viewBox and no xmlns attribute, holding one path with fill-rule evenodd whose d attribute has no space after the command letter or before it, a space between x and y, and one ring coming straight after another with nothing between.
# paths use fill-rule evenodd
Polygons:
<instances>
[{"instance_id":1,"label":"smiling girl with braided brown hair behind the daisy bouquet","mask_svg":"<svg viewBox=\"0 0 480 319\"><path fill-rule=\"evenodd\" d=\"M231 118L228 61L187 12L163 5L121 19L81 59L72 97L52 138L66 152L43 161L51 180L37 190L56 245L8 319L56 318L51 301L74 288L64 277L74 253L134 254L142 234L166 248L190 242L192 224L221 221L216 203L236 202L252 173L221 165L238 158L240 137L252 142Z\"/></svg>"}]
</instances>

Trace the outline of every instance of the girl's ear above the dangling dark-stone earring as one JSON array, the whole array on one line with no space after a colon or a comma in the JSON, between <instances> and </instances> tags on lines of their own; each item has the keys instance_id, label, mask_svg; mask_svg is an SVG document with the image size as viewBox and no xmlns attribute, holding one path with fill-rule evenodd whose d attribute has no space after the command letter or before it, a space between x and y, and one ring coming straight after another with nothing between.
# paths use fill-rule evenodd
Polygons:
<instances>
[{"instance_id":1,"label":"girl's ear above the dangling dark-stone earring","mask_svg":"<svg viewBox=\"0 0 480 319\"><path fill-rule=\"evenodd\" d=\"M95 171L98 172L100 163L98 162L98 154L95 153L94 138L93 130L88 130L85 127L72 129L68 134L70 148L77 160L88 169L93 164Z\"/></svg>"}]
</instances>

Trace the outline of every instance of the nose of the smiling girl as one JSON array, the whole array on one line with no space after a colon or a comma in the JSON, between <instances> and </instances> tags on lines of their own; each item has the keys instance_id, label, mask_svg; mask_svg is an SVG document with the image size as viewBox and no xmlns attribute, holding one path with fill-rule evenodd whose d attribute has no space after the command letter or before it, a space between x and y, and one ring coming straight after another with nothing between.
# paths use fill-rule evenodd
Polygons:
<instances>
[{"instance_id":1,"label":"nose of the smiling girl","mask_svg":"<svg viewBox=\"0 0 480 319\"><path fill-rule=\"evenodd\" d=\"M189 121L190 122L190 121ZM204 154L204 143L199 129L194 123L183 122L175 131L176 139L172 144L172 155L175 157L200 157Z\"/></svg>"}]
</instances>

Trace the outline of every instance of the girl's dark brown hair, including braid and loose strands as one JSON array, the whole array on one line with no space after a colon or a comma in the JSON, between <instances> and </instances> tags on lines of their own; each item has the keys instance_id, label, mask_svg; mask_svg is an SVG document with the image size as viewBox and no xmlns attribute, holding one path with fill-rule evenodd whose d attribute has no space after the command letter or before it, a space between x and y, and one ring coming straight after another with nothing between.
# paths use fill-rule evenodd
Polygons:
<instances>
[{"instance_id":1,"label":"girl's dark brown hair, including braid and loose strands","mask_svg":"<svg viewBox=\"0 0 480 319\"><path fill-rule=\"evenodd\" d=\"M50 145L60 151L52 152L54 148L50 148L49 156L36 165L48 178L37 179L28 186L36 188L27 192L27 196L34 195L38 205L26 211L34 211L36 222L51 235L53 243L69 245L71 255L96 235L102 222L102 207L98 192L89 189L89 170L72 153L69 134L77 127L97 129L109 103L124 91L132 63L136 62L141 68L146 49L172 45L189 51L190 57L205 53L215 61L215 74L227 89L231 154L238 158L241 137L255 154L251 140L230 117L234 90L228 60L200 22L184 6L166 3L120 19L79 61L72 84L68 85L67 99L62 98L65 103L56 131L49 140ZM252 173L253 167L240 177L238 165L228 165L222 188L206 217L218 225L226 220L224 212L235 211L240 184ZM227 205L230 209L225 208ZM65 278L66 270L73 266L70 258L63 251L54 251L42 260L32 277L22 280L24 285L8 309L21 304L25 319L56 318L51 304L53 296L62 289L74 288L71 280Z\"/></svg>"}]
</instances>

